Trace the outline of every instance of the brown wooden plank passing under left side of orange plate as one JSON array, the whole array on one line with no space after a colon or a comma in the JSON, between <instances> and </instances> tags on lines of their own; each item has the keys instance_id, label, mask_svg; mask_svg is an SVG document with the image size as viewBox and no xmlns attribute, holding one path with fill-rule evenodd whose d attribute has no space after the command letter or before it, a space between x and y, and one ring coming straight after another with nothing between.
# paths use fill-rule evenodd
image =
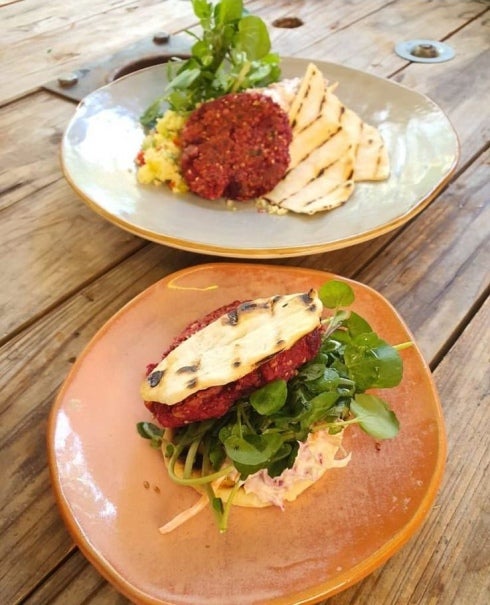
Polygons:
<instances>
[{"instance_id":1,"label":"brown wooden plank passing under left side of orange plate","mask_svg":"<svg viewBox=\"0 0 490 605\"><path fill-rule=\"evenodd\" d=\"M54 504L45 452L47 417L60 381L118 308L162 273L193 260L191 254L147 246L0 350L0 454L5 461L0 602L27 594L71 546Z\"/></svg>"}]
</instances>

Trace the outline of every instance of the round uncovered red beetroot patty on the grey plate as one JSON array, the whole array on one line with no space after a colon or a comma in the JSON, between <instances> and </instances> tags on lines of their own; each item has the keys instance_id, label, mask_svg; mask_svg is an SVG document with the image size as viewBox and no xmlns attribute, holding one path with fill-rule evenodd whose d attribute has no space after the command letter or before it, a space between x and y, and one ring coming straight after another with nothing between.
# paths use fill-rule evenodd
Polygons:
<instances>
[{"instance_id":1,"label":"round uncovered red beetroot patty on the grey plate","mask_svg":"<svg viewBox=\"0 0 490 605\"><path fill-rule=\"evenodd\" d=\"M206 199L248 200L271 191L289 165L287 114L269 97L235 93L203 103L182 132L181 168Z\"/></svg>"}]
</instances>

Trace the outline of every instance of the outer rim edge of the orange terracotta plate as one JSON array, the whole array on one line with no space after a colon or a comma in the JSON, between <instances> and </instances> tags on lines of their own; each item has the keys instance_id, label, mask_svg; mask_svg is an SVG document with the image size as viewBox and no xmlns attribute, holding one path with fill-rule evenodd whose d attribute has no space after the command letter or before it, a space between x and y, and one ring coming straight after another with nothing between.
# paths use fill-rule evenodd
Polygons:
<instances>
[{"instance_id":1,"label":"outer rim edge of the orange terracotta plate","mask_svg":"<svg viewBox=\"0 0 490 605\"><path fill-rule=\"evenodd\" d=\"M113 585L119 592L121 592L126 597L131 600L135 600L137 603L142 603L145 605L175 605L173 601L161 600L159 598L155 598L147 592L142 591L134 584L128 582L123 575L121 575L108 561L103 557L101 553L97 551L96 546L91 542L89 536L87 536L82 527L80 526L76 516L71 512L69 501L65 497L63 483L61 481L61 477L57 472L57 457L54 446L54 433L56 430L56 420L58 412L63 404L64 396L66 390L70 386L70 382L75 374L78 372L79 368L83 365L85 358L90 354L92 348L97 345L100 338L104 336L104 334L112 327L113 324L117 323L117 321L126 313L126 311L131 308L134 304L136 304L141 298L147 296L150 290L156 289L161 285L168 284L169 282L179 279L180 277L184 277L189 275L195 271L213 271L218 267L223 266L233 267L234 270L238 268L243 268L247 270L254 269L268 269L272 271L278 271L283 273L284 275L288 275L290 273L296 273L301 275L315 275L318 278L323 277L326 279L335 279L338 278L347 283L353 283L356 286L360 286L362 289L369 291L376 298L381 299L382 302L389 308L390 312L394 314L397 322L401 325L401 327L406 330L409 336L412 337L411 331L408 326L404 322L403 318L397 312L395 307L391 304L391 302L386 299L380 292L359 282L352 278L343 277L337 275L335 273L329 271L322 271L319 269L310 269L307 267L297 267L297 266L275 266L272 264L255 264L255 263L221 263L221 262L210 262L203 263L199 265L191 265L189 267L180 269L178 271L172 272L163 278L157 280L152 283L150 286L142 290L128 302L126 302L119 310L117 310L113 315L111 315L104 324L97 330L97 332L92 336L80 354L77 356L75 363L70 368L67 376L65 377L61 387L58 389L58 393L55 397L54 403L50 409L46 430L46 444L47 444L47 454L48 454L48 468L49 475L51 480L52 491L55 496L55 501L58 507L58 511L61 513L61 517L63 519L65 528L68 533L73 538L75 544L78 546L82 554L85 558L93 565L93 567L100 573L100 575L105 578L111 585ZM302 591L295 592L294 594L290 594L287 596L274 597L271 599L267 599L267 605L295 605L298 602L301 603L317 603L320 600L330 598L335 594L338 594L347 588L358 584L361 580L365 579L368 575L373 573L376 569L381 567L389 558L391 558L395 553L397 553L404 544L406 544L412 537L414 537L417 530L421 527L426 517L428 516L429 509L433 505L438 491L440 489L440 485L442 482L442 478L444 475L445 464L446 464L446 456L447 456L447 436L446 429L444 423L443 410L441 406L441 402L439 399L439 394L437 388L435 386L431 370L426 363L418 345L412 337L413 346L418 352L420 362L426 372L426 377L428 379L428 385L430 386L431 397L434 402L434 419L436 421L437 426L437 459L434 464L434 470L430 477L430 482L428 483L427 488L424 491L424 495L420 501L418 508L416 509L413 516L410 520L398 531L396 532L391 539L387 540L380 548L374 551L371 555L357 563L356 565L340 572L334 577L334 581L332 579L328 581L323 581L321 583L316 584L313 587L306 588ZM354 573L355 572L355 573ZM300 601L298 600L300 599Z\"/></svg>"}]
</instances>

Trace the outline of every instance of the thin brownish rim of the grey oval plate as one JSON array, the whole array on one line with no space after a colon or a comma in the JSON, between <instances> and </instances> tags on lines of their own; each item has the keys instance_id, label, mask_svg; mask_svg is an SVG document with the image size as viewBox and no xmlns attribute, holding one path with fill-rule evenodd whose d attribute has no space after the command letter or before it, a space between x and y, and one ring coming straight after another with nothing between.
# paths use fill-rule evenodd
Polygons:
<instances>
[{"instance_id":1,"label":"thin brownish rim of the grey oval plate","mask_svg":"<svg viewBox=\"0 0 490 605\"><path fill-rule=\"evenodd\" d=\"M441 179L434 183L432 189L426 193L426 195L420 198L414 206L409 209L407 212L396 216L395 218L370 229L369 231L365 231L362 233L357 233L349 236L345 236L341 239L324 241L320 243L311 243L311 244L298 244L294 246L281 246L281 247L255 247L255 248L237 248L237 247L229 247L229 246L221 246L216 243L200 243L196 242L192 239L179 238L173 235L167 235L162 233L161 231L155 231L153 229L148 229L146 227L140 226L131 222L129 220L124 220L123 218L111 213L104 207L102 207L99 203L94 201L89 195L87 195L83 189L77 184L75 178L69 172L67 161L64 155L64 148L66 137L72 126L76 123L78 112L83 107L84 103L86 103L87 99L91 98L93 95L99 94L101 91L107 90L114 85L117 85L118 82L123 80L129 80L135 76L135 74L141 74L143 72L150 73L151 71L157 71L162 69L162 65L153 65L146 67L144 69L138 70L136 72L132 72L126 74L122 78L118 80L114 80L98 88L97 90L86 95L80 103L77 105L75 113L71 117L65 131L63 133L61 145L60 145L60 164L63 176L66 181L70 185L70 187L76 192L76 194L84 201L84 203L93 210L96 214L107 220L109 223L119 227L120 229L131 233L132 235L141 237L147 241L151 241L160 245L166 245L178 250L184 250L187 252L194 252L200 254L210 254L218 257L228 257L228 258L237 258L237 259L273 259L273 258L291 258L297 256L304 256L305 254L319 254L323 252L330 252L334 250L343 249L346 247L350 247L353 245L357 245L360 243L364 243L370 241L372 239L378 238L381 235L389 233L396 228L404 225L406 222L410 221L413 217L419 214L424 208L426 208L430 202L439 194L439 192L447 186L450 181L452 175L454 174L456 167L458 165L460 154L461 154L461 144L459 141L459 136L452 125L452 122L446 112L428 95L425 93L421 93L417 90L411 89L408 86L396 82L390 78L385 78L376 74L371 74L367 71L363 71L354 67L350 67L347 65L343 65L340 63L335 63L332 61L325 61L322 59L310 59L306 57L289 57L283 56L281 57L281 63L291 62L293 64L298 64L306 68L308 63L314 63L317 65L322 71L328 70L329 66L333 66L335 69L340 69L342 71L351 72L352 74L356 74L358 76L367 77L372 81L379 81L392 86L395 89L403 90L407 94L411 94L423 100L427 105L431 105L435 110L439 112L441 116L443 116L447 120L447 125L451 134L454 137L455 141L455 150L454 156L452 157L452 162L446 173L442 175ZM348 200L347 202L348 203ZM264 213L266 215L267 213ZM274 216L274 215L271 215ZM307 217L314 220L313 217Z\"/></svg>"}]
</instances>

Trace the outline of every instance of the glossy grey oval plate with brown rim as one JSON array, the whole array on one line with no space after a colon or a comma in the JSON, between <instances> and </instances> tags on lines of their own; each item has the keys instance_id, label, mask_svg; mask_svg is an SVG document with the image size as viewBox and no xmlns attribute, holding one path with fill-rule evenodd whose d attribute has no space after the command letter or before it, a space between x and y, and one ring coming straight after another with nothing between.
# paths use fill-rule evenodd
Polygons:
<instances>
[{"instance_id":1,"label":"glossy grey oval plate with brown rim","mask_svg":"<svg viewBox=\"0 0 490 605\"><path fill-rule=\"evenodd\" d=\"M301 77L309 61L284 59L283 77ZM444 112L396 82L315 61L337 95L377 126L391 176L359 183L342 207L314 216L259 213L253 203L175 195L136 182L142 112L163 94L166 67L135 72L88 95L63 137L64 174L85 202L119 227L175 248L236 258L300 256L343 248L399 227L447 183L459 145ZM362 94L359 93L362 91Z\"/></svg>"}]
</instances>

